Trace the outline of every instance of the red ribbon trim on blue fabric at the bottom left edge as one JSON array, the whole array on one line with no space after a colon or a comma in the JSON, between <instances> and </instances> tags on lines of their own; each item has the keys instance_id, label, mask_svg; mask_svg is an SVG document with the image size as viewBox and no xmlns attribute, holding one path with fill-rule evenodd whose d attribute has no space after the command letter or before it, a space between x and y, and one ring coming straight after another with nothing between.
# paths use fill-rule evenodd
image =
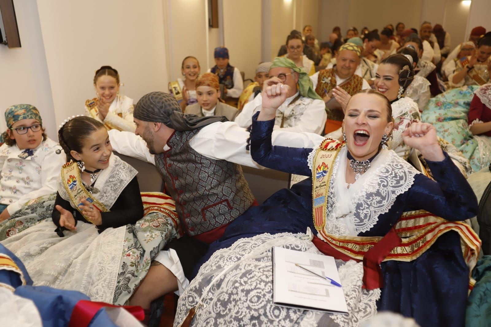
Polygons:
<instances>
[{"instance_id":1,"label":"red ribbon trim on blue fabric at the bottom left edge","mask_svg":"<svg viewBox=\"0 0 491 327\"><path fill-rule=\"evenodd\" d=\"M92 302L88 300L80 300L75 304L68 327L87 327L94 316L102 308L124 308L131 313L138 321L145 318L145 313L141 306L133 305L114 305L105 302Z\"/></svg>"}]
</instances>

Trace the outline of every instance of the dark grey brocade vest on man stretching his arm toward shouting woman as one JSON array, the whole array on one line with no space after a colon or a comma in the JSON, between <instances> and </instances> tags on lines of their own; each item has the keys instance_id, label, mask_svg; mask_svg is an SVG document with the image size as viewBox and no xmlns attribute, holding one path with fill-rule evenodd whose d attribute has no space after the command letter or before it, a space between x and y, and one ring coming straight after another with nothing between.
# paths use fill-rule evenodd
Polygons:
<instances>
[{"instance_id":1,"label":"dark grey brocade vest on man stretching his arm toward shouting woman","mask_svg":"<svg viewBox=\"0 0 491 327\"><path fill-rule=\"evenodd\" d=\"M183 228L191 236L234 220L254 202L240 165L210 159L191 148L189 141L199 130L174 132L167 141L170 149L155 156Z\"/></svg>"}]
</instances>

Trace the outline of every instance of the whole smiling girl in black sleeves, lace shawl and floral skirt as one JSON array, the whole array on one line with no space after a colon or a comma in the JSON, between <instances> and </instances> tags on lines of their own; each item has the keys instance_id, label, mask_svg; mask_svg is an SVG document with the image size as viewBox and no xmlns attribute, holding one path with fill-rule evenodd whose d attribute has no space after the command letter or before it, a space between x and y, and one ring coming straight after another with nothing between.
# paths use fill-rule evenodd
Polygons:
<instances>
[{"instance_id":1,"label":"whole smiling girl in black sleeves, lace shawl and floral skirt","mask_svg":"<svg viewBox=\"0 0 491 327\"><path fill-rule=\"evenodd\" d=\"M136 169L112 154L101 122L69 118L58 140L64 152L58 155L66 155L67 163L60 167L54 205L34 203L31 208L50 210L52 219L2 244L26 265L34 285L124 304L151 260L177 236L174 203L162 193L140 194ZM45 217L44 211L39 216Z\"/></svg>"}]
</instances>

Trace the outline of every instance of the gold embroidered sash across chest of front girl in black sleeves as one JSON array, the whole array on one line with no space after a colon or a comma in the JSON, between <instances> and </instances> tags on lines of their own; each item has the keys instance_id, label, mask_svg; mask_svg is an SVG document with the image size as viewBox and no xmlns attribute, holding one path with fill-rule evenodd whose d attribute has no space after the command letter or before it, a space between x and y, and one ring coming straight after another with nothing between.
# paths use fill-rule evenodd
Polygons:
<instances>
[{"instance_id":1,"label":"gold embroidered sash across chest of front girl in black sleeves","mask_svg":"<svg viewBox=\"0 0 491 327\"><path fill-rule=\"evenodd\" d=\"M92 197L92 194L90 194L83 186L80 170L76 162L71 161L61 167L61 181L66 192L68 193L68 196L70 196L72 203L75 205L81 215L82 210L79 206L83 205L82 200L87 200L88 202L92 203L94 208L101 212L108 211L104 204ZM83 216L83 218L92 223L90 218L87 218L86 216Z\"/></svg>"}]
</instances>

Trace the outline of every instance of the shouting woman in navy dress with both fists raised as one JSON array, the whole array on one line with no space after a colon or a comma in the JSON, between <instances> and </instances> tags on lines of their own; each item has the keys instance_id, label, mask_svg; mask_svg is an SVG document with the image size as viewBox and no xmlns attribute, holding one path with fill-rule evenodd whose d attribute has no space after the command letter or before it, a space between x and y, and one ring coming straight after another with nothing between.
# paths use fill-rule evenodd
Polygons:
<instances>
[{"instance_id":1,"label":"shouting woman in navy dress with both fists raised","mask_svg":"<svg viewBox=\"0 0 491 327\"><path fill-rule=\"evenodd\" d=\"M422 327L464 326L480 241L459 220L475 215L477 200L439 147L435 128L415 122L403 137L425 156L436 181L386 149L394 126L391 106L372 89L350 99L345 140L325 139L313 149L272 146L275 110L287 91L284 84L263 90L262 109L252 120L251 155L258 164L311 180L278 191L227 227L181 296L176 321L194 308L194 326L205 320L359 326L388 310ZM338 259L348 315L274 305L274 245ZM221 294L240 296L230 301Z\"/></svg>"}]
</instances>

